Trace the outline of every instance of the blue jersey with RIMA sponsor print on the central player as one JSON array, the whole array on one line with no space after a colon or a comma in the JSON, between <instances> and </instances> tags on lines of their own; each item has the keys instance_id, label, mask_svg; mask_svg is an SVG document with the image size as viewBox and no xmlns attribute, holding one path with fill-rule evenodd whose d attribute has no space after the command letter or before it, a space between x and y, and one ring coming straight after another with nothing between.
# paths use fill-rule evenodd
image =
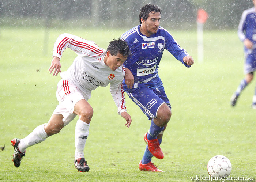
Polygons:
<instances>
[{"instance_id":1,"label":"blue jersey with RIMA sponsor print on the central player","mask_svg":"<svg viewBox=\"0 0 256 182\"><path fill-rule=\"evenodd\" d=\"M150 37L144 36L140 32L140 25L125 32L121 39L127 41L131 50L131 56L124 62L134 76L133 88L138 87L158 87L161 79L158 76L158 65L163 56L163 50L168 50L177 60L186 67L190 67L183 62L183 57L188 53L178 45L172 35L162 27L158 27L157 33ZM125 81L124 90L130 92Z\"/></svg>"}]
</instances>

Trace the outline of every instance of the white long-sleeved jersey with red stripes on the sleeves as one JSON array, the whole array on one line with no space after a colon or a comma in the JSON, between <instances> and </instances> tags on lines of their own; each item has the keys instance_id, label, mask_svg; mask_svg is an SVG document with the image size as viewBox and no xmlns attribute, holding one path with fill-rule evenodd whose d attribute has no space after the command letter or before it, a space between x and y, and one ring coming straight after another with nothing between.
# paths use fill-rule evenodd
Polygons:
<instances>
[{"instance_id":1,"label":"white long-sleeved jersey with red stripes on the sleeves","mask_svg":"<svg viewBox=\"0 0 256 182\"><path fill-rule=\"evenodd\" d=\"M86 99L97 87L106 87L110 83L110 92L118 107L118 114L126 111L125 95L122 81L125 70L123 65L112 71L105 63L106 50L99 48L93 41L71 34L61 34L54 43L53 56L62 57L66 48L73 50L78 56L67 71L60 76L75 84ZM69 93L68 87L66 89Z\"/></svg>"}]
</instances>

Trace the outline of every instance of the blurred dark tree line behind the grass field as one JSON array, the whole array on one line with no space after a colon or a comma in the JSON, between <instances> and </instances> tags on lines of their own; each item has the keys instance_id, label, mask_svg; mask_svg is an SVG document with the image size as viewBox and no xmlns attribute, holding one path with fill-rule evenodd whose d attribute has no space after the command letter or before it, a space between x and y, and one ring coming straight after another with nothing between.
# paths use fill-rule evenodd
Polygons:
<instances>
[{"instance_id":1,"label":"blurred dark tree line behind the grass field","mask_svg":"<svg viewBox=\"0 0 256 182\"><path fill-rule=\"evenodd\" d=\"M0 0L0 26L132 27L147 3L162 9L161 26L196 27L198 8L209 14L207 29L237 28L252 0Z\"/></svg>"}]
</instances>

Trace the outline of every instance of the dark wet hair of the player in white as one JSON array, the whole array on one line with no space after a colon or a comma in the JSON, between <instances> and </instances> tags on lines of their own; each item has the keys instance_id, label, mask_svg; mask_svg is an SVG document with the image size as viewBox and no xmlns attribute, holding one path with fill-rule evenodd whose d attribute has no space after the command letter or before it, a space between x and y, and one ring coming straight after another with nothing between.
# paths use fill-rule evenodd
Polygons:
<instances>
[{"instance_id":1,"label":"dark wet hair of the player in white","mask_svg":"<svg viewBox=\"0 0 256 182\"><path fill-rule=\"evenodd\" d=\"M123 54L124 57L130 56L131 51L126 41L118 39L113 39L113 41L109 42L109 46L107 51L109 50L112 56L116 56L118 53Z\"/></svg>"}]
</instances>

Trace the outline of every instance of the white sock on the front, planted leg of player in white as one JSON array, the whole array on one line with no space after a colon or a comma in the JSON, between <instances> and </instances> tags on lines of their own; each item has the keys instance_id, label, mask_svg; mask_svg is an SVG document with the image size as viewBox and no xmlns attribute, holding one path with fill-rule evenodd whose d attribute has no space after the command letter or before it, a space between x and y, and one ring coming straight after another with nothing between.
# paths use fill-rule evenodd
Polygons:
<instances>
[{"instance_id":1,"label":"white sock on the front, planted leg of player in white","mask_svg":"<svg viewBox=\"0 0 256 182\"><path fill-rule=\"evenodd\" d=\"M78 120L76 122L76 129L75 129L75 160L77 158L83 158L84 156L84 146L86 139L89 134L90 124L83 122L82 120Z\"/></svg>"}]
</instances>

